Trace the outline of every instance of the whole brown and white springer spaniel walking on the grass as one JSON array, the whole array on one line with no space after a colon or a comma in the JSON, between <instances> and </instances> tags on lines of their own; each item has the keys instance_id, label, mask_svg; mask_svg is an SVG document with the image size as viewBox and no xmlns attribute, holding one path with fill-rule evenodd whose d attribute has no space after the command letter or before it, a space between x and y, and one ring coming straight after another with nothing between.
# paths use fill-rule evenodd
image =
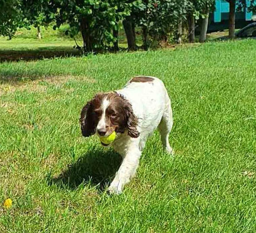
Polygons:
<instances>
[{"instance_id":1,"label":"whole brown and white springer spaniel walking on the grass","mask_svg":"<svg viewBox=\"0 0 256 233\"><path fill-rule=\"evenodd\" d=\"M171 102L164 83L155 77L134 77L116 92L100 93L82 109L82 135L108 136L116 131L111 143L123 160L109 192L121 194L135 175L147 138L158 127L164 149L172 154L169 133L173 126ZM101 143L102 146L108 146Z\"/></svg>"}]
</instances>

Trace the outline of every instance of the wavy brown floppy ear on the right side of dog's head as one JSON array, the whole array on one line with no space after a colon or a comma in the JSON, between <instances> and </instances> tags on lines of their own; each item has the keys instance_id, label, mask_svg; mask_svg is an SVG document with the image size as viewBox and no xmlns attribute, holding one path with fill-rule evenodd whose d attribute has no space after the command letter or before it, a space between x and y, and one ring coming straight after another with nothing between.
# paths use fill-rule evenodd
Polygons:
<instances>
[{"instance_id":1,"label":"wavy brown floppy ear on the right side of dog's head","mask_svg":"<svg viewBox=\"0 0 256 233\"><path fill-rule=\"evenodd\" d=\"M132 110L131 104L127 103L126 106L126 116L127 116L127 128L128 128L128 135L131 138L137 138L140 133L137 130L138 125L138 118L134 115L134 112Z\"/></svg>"}]
</instances>

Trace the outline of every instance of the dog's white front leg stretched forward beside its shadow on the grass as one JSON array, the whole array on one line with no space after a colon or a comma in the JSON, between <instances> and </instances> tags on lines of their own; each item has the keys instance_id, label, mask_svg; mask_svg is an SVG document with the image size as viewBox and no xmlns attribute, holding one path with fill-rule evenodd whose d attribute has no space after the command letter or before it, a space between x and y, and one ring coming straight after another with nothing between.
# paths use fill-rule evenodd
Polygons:
<instances>
[{"instance_id":1,"label":"dog's white front leg stretched forward beside its shadow on the grass","mask_svg":"<svg viewBox=\"0 0 256 233\"><path fill-rule=\"evenodd\" d=\"M141 151L138 146L129 148L124 156L122 164L116 173L116 176L109 186L109 193L121 194L124 185L135 175L139 165Z\"/></svg>"}]
</instances>

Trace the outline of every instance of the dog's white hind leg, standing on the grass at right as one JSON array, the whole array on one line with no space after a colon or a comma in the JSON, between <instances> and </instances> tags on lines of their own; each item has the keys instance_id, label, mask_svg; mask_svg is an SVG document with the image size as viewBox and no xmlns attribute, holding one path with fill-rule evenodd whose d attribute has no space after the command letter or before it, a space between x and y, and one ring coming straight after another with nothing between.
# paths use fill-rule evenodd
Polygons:
<instances>
[{"instance_id":1,"label":"dog's white hind leg, standing on the grass at right","mask_svg":"<svg viewBox=\"0 0 256 233\"><path fill-rule=\"evenodd\" d=\"M169 144L169 134L170 134L171 128L173 128L173 110L171 109L171 102L168 97L168 101L166 101L164 114L160 121L158 129L161 135L161 141L164 149L169 154L174 154L173 148L171 148Z\"/></svg>"}]
</instances>

